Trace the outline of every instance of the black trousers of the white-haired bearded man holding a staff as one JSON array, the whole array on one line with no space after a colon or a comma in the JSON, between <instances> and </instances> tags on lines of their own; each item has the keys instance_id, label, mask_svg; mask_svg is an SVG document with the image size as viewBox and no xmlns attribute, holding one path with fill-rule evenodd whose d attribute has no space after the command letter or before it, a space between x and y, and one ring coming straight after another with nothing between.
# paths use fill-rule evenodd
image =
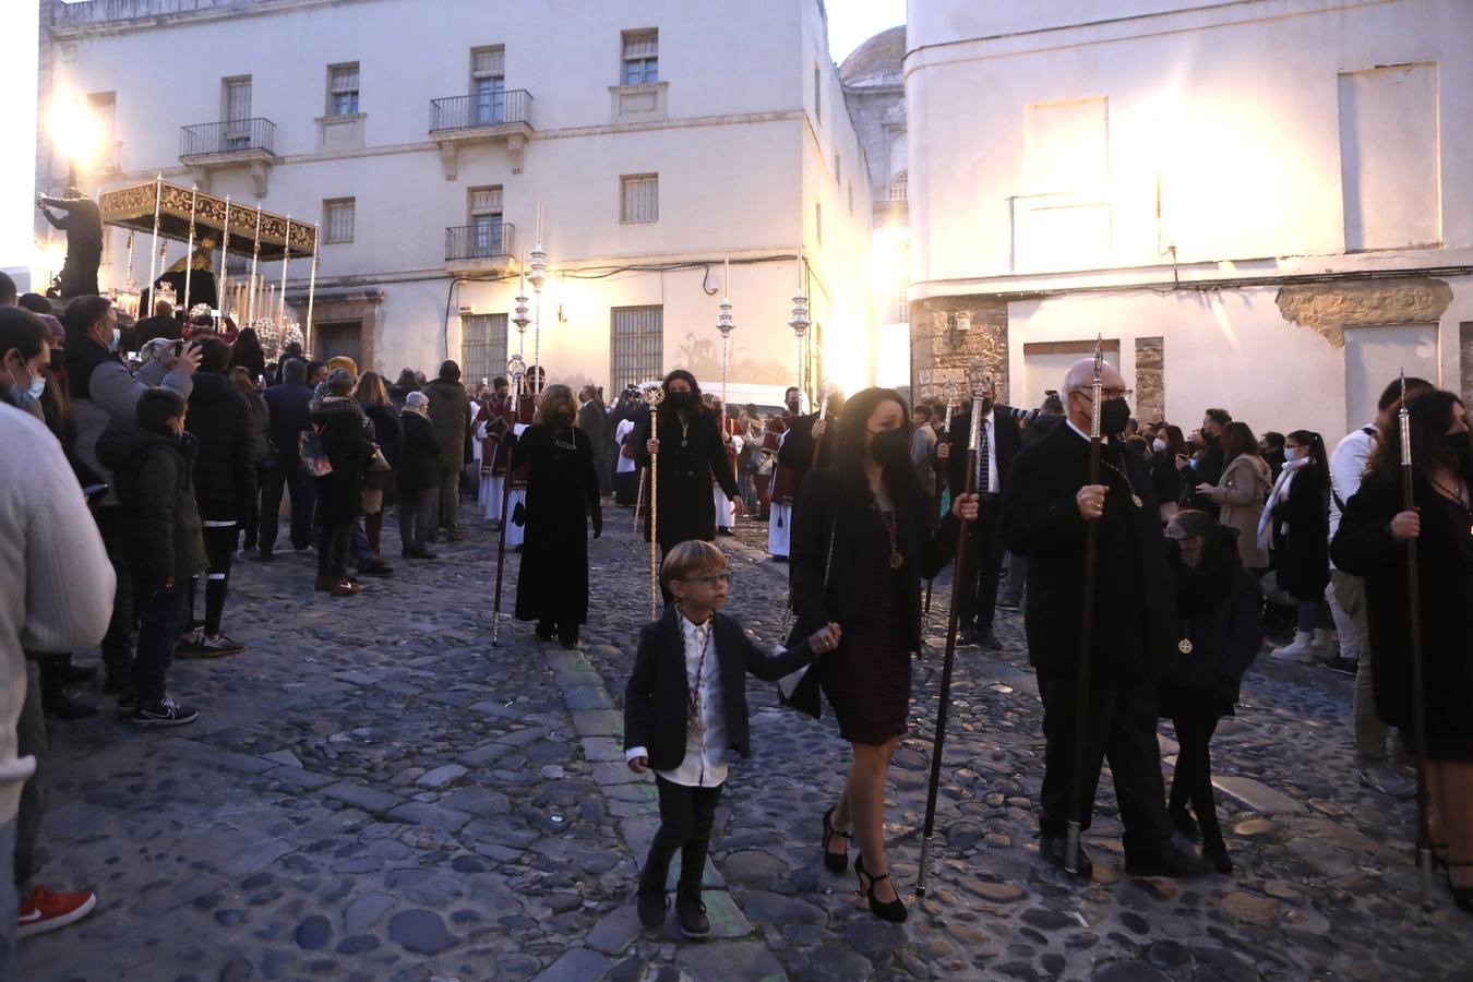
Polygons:
<instances>
[{"instance_id":1,"label":"black trousers of the white-haired bearded man holding a staff","mask_svg":"<svg viewBox=\"0 0 1473 982\"><path fill-rule=\"evenodd\" d=\"M1074 794L1074 739L1077 679L1069 674L1040 674L1043 696L1043 835L1066 835L1069 801ZM1100 766L1109 760L1115 776L1115 798L1127 855L1152 852L1171 839L1165 788L1161 782L1161 749L1156 743L1156 680L1150 676L1100 679L1089 693L1084 732L1084 808L1080 826L1090 827Z\"/></svg>"}]
</instances>

